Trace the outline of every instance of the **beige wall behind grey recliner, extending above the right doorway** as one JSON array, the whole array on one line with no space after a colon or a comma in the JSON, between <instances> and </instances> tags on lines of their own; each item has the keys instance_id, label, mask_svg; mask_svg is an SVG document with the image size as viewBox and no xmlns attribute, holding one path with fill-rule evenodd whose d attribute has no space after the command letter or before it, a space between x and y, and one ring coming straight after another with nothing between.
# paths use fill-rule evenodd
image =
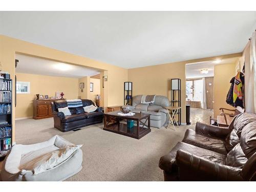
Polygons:
<instances>
[{"instance_id":1,"label":"beige wall behind grey recliner, extending above the right doorway","mask_svg":"<svg viewBox=\"0 0 256 192\"><path fill-rule=\"evenodd\" d=\"M241 57L242 53L166 63L128 70L128 80L133 82L133 96L141 94L164 95L170 99L170 79L181 79L181 122L185 123L185 65L186 63ZM234 73L234 70L233 70Z\"/></svg>"}]
</instances>

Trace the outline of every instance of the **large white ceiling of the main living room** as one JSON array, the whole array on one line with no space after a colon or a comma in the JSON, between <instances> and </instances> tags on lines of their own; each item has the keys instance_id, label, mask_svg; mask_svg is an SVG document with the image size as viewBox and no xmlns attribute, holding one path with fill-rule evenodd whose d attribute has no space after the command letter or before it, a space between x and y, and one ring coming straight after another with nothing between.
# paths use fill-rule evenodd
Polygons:
<instances>
[{"instance_id":1,"label":"large white ceiling of the main living room","mask_svg":"<svg viewBox=\"0 0 256 192\"><path fill-rule=\"evenodd\" d=\"M0 34L123 68L242 52L256 12L0 12Z\"/></svg>"}]
</instances>

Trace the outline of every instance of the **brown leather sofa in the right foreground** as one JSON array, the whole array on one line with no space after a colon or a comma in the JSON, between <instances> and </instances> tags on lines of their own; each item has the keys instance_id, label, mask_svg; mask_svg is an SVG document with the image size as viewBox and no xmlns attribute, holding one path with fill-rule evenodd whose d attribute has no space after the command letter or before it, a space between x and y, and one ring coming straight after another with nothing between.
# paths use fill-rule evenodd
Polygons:
<instances>
[{"instance_id":1,"label":"brown leather sofa in the right foreground","mask_svg":"<svg viewBox=\"0 0 256 192\"><path fill-rule=\"evenodd\" d=\"M165 181L255 181L256 115L237 115L229 127L197 122L159 167Z\"/></svg>"}]
</instances>

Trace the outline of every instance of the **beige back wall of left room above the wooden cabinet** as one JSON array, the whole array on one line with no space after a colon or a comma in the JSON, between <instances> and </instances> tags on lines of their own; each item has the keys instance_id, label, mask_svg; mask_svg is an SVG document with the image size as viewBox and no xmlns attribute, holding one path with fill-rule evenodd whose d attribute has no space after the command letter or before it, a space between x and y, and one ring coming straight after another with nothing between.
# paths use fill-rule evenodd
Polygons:
<instances>
[{"instance_id":1,"label":"beige back wall of left room above the wooden cabinet","mask_svg":"<svg viewBox=\"0 0 256 192\"><path fill-rule=\"evenodd\" d=\"M16 73L17 81L30 82L30 94L17 94L15 119L33 116L33 100L36 94L49 98L61 91L66 99L78 98L78 78L55 77L46 75Z\"/></svg>"}]
</instances>

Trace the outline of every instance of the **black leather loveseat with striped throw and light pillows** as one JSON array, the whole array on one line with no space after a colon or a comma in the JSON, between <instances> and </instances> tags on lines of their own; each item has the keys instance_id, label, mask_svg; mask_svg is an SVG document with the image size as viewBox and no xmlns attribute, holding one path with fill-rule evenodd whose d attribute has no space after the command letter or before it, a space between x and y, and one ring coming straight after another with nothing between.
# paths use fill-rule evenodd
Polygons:
<instances>
[{"instance_id":1,"label":"black leather loveseat with striped throw and light pillows","mask_svg":"<svg viewBox=\"0 0 256 192\"><path fill-rule=\"evenodd\" d=\"M78 129L83 126L88 126L96 123L101 123L103 120L102 108L97 108L95 112L86 113L83 106L94 104L92 100L81 99L82 106L77 108L69 108L71 115L65 116L63 112L58 112L58 108L68 106L66 100L58 100L52 102L52 111L54 119L54 127L62 132Z\"/></svg>"}]
</instances>

